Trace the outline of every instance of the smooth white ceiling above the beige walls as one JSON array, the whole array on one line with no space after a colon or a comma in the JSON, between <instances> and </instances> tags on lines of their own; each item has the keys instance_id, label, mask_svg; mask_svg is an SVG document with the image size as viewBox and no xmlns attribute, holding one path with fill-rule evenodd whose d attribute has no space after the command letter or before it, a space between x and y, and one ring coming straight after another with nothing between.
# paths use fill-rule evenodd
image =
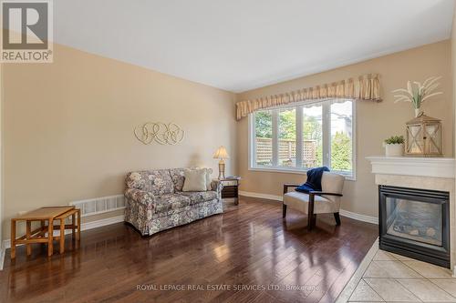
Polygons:
<instances>
[{"instance_id":1,"label":"smooth white ceiling above the beige walls","mask_svg":"<svg viewBox=\"0 0 456 303\"><path fill-rule=\"evenodd\" d=\"M56 0L54 37L242 92L449 38L453 0Z\"/></svg>"}]
</instances>

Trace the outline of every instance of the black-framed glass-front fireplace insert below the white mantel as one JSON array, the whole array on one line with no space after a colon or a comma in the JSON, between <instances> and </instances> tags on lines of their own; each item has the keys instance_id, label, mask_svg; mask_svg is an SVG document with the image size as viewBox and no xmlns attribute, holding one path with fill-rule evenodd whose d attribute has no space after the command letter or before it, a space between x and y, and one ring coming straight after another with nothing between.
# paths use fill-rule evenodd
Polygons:
<instances>
[{"instance_id":1,"label":"black-framed glass-front fireplace insert below the white mantel","mask_svg":"<svg viewBox=\"0 0 456 303\"><path fill-rule=\"evenodd\" d=\"M378 186L381 249L450 268L450 193Z\"/></svg>"}]
</instances>

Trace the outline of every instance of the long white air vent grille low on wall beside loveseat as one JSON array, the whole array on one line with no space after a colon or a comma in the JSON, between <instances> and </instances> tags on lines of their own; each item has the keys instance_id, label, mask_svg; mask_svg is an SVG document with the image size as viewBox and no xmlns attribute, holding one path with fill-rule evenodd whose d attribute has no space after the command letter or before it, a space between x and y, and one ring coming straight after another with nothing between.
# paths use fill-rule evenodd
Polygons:
<instances>
[{"instance_id":1,"label":"long white air vent grille low on wall beside loveseat","mask_svg":"<svg viewBox=\"0 0 456 303\"><path fill-rule=\"evenodd\" d=\"M125 197L123 195L96 197L74 201L69 205L79 208L81 210L81 217L87 217L125 208Z\"/></svg>"}]
</instances>

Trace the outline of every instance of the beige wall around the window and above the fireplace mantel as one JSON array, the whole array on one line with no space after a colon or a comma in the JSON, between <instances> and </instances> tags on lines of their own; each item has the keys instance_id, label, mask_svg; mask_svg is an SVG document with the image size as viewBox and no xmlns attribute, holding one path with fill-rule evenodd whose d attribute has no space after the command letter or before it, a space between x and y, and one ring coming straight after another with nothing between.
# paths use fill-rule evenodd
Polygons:
<instances>
[{"instance_id":1,"label":"beige wall around the window and above the fireplace mantel","mask_svg":"<svg viewBox=\"0 0 456 303\"><path fill-rule=\"evenodd\" d=\"M405 135L405 123L414 113L409 103L394 104L391 90L404 87L408 80L423 81L429 76L443 76L440 89L443 95L435 97L422 107L427 115L442 120L443 151L453 155L453 110L451 80L451 42L443 41L408 51L382 56L351 66L344 66L313 76L304 76L273 86L244 92L238 100L285 93L295 89L331 83L366 73L381 76L383 102L357 102L357 180L347 181L342 208L366 216L378 216L378 191L371 167L365 157L384 154L382 141L388 136ZM306 176L287 173L269 173L248 170L247 118L238 123L238 172L243 177L241 190L281 196L286 182L302 183Z\"/></svg>"}]
</instances>

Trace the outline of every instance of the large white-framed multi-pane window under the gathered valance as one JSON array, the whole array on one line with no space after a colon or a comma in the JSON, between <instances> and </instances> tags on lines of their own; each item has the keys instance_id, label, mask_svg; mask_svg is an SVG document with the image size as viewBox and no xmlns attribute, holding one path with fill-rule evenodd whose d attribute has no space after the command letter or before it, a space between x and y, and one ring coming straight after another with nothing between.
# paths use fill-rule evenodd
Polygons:
<instances>
[{"instance_id":1,"label":"large white-framed multi-pane window under the gathered valance","mask_svg":"<svg viewBox=\"0 0 456 303\"><path fill-rule=\"evenodd\" d=\"M250 116L250 168L354 173L354 102L329 99L259 110Z\"/></svg>"}]
</instances>

